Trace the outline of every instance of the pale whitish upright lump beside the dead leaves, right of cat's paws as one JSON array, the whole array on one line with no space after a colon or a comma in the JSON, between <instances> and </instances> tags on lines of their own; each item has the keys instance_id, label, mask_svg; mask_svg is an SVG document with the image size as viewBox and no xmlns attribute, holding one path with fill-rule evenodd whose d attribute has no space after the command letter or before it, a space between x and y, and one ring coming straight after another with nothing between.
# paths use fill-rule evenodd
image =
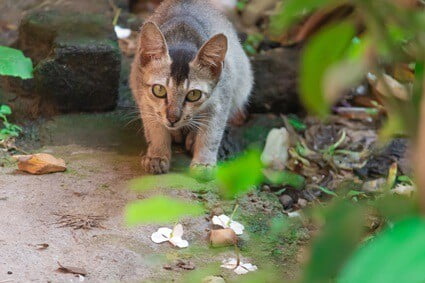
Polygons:
<instances>
[{"instance_id":1,"label":"pale whitish upright lump beside the dead leaves, right of cat's paws","mask_svg":"<svg viewBox=\"0 0 425 283\"><path fill-rule=\"evenodd\" d=\"M266 145L261 154L263 164L274 170L285 169L288 161L289 134L285 128L272 129L267 135Z\"/></svg>"}]
</instances>

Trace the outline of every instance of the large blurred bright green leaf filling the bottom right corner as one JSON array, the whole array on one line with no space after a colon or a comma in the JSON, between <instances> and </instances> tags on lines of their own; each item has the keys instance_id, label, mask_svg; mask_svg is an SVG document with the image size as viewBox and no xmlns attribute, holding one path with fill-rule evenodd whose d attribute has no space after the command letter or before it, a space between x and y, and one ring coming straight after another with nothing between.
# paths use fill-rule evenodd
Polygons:
<instances>
[{"instance_id":1,"label":"large blurred bright green leaf filling the bottom right corner","mask_svg":"<svg viewBox=\"0 0 425 283\"><path fill-rule=\"evenodd\" d=\"M425 220L403 220L360 248L338 282L425 282Z\"/></svg>"}]
</instances>

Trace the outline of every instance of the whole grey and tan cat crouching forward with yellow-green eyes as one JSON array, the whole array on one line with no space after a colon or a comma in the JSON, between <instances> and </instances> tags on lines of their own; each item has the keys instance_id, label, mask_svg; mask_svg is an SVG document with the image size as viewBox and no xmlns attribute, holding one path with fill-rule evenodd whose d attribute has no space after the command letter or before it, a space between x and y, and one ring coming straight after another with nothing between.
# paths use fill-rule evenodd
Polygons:
<instances>
[{"instance_id":1,"label":"whole grey and tan cat crouching forward with yellow-green eyes","mask_svg":"<svg viewBox=\"0 0 425 283\"><path fill-rule=\"evenodd\" d=\"M216 165L253 75L232 24L209 1L165 0L141 28L130 85L148 142L142 166L163 174L172 141L192 151L192 167Z\"/></svg>"}]
</instances>

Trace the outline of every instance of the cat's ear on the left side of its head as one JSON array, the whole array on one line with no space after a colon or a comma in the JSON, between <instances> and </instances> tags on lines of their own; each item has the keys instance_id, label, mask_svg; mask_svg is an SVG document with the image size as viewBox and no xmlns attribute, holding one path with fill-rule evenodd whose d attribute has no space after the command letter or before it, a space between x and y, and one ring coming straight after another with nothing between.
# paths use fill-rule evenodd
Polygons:
<instances>
[{"instance_id":1,"label":"cat's ear on the left side of its head","mask_svg":"<svg viewBox=\"0 0 425 283\"><path fill-rule=\"evenodd\" d=\"M142 26L138 52L142 65L168 56L168 47L164 35L155 23L147 22Z\"/></svg>"}]
</instances>

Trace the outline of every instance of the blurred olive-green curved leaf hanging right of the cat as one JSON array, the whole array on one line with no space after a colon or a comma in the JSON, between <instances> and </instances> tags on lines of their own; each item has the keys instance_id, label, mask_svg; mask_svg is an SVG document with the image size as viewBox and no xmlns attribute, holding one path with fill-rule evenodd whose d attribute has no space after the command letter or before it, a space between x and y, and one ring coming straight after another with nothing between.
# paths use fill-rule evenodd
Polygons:
<instances>
[{"instance_id":1,"label":"blurred olive-green curved leaf hanging right of the cat","mask_svg":"<svg viewBox=\"0 0 425 283\"><path fill-rule=\"evenodd\" d=\"M324 93L326 71L346 53L355 35L349 22L328 26L317 33L305 47L301 59L301 100L313 114L324 117L329 112L329 102Z\"/></svg>"}]
</instances>

